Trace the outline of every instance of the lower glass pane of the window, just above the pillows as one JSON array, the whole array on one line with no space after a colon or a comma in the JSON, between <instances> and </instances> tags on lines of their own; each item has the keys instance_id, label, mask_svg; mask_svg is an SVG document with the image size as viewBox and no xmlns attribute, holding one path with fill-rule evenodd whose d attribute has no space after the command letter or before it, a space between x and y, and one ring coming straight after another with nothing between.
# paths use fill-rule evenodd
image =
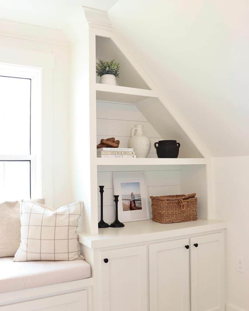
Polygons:
<instances>
[{"instance_id":1,"label":"lower glass pane of the window, just above the pillows","mask_svg":"<svg viewBox=\"0 0 249 311\"><path fill-rule=\"evenodd\" d=\"M0 161L0 201L30 198L30 161Z\"/></svg>"}]
</instances>

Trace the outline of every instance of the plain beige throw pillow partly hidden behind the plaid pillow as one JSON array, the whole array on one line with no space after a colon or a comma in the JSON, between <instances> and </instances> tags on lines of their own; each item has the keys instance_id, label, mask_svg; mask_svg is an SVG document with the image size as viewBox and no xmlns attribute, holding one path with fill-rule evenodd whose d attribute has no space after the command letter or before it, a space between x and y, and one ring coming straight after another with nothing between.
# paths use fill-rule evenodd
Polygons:
<instances>
[{"instance_id":1,"label":"plain beige throw pillow partly hidden behind the plaid pillow","mask_svg":"<svg viewBox=\"0 0 249 311\"><path fill-rule=\"evenodd\" d=\"M44 199L34 202L44 204ZM15 255L21 241L20 202L0 203L0 257Z\"/></svg>"}]
</instances>

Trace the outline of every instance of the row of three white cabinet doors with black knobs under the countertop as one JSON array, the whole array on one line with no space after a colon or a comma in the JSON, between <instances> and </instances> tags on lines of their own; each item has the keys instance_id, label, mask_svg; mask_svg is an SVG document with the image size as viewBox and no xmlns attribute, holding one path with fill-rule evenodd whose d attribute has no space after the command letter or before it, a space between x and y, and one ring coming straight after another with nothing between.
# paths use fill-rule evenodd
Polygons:
<instances>
[{"instance_id":1,"label":"row of three white cabinet doors with black knobs under the countertop","mask_svg":"<svg viewBox=\"0 0 249 311\"><path fill-rule=\"evenodd\" d=\"M100 252L98 311L224 311L223 233L147 245Z\"/></svg>"}]
</instances>

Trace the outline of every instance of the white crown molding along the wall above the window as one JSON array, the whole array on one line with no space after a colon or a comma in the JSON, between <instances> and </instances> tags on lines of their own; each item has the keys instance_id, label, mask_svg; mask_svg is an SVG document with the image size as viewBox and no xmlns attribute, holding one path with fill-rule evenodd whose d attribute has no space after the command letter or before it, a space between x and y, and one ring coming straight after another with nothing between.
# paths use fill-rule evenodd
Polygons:
<instances>
[{"instance_id":1,"label":"white crown molding along the wall above the window","mask_svg":"<svg viewBox=\"0 0 249 311\"><path fill-rule=\"evenodd\" d=\"M0 36L69 46L62 30L0 20Z\"/></svg>"}]
</instances>

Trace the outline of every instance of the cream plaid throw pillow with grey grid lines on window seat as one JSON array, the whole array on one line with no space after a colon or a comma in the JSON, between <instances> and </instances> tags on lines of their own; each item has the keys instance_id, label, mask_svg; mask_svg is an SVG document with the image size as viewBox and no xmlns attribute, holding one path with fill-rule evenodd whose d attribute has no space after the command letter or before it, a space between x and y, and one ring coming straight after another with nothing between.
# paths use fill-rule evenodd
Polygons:
<instances>
[{"instance_id":1,"label":"cream plaid throw pillow with grey grid lines on window seat","mask_svg":"<svg viewBox=\"0 0 249 311\"><path fill-rule=\"evenodd\" d=\"M21 244L13 261L83 259L78 245L78 219L83 202L53 210L21 201Z\"/></svg>"}]
</instances>

